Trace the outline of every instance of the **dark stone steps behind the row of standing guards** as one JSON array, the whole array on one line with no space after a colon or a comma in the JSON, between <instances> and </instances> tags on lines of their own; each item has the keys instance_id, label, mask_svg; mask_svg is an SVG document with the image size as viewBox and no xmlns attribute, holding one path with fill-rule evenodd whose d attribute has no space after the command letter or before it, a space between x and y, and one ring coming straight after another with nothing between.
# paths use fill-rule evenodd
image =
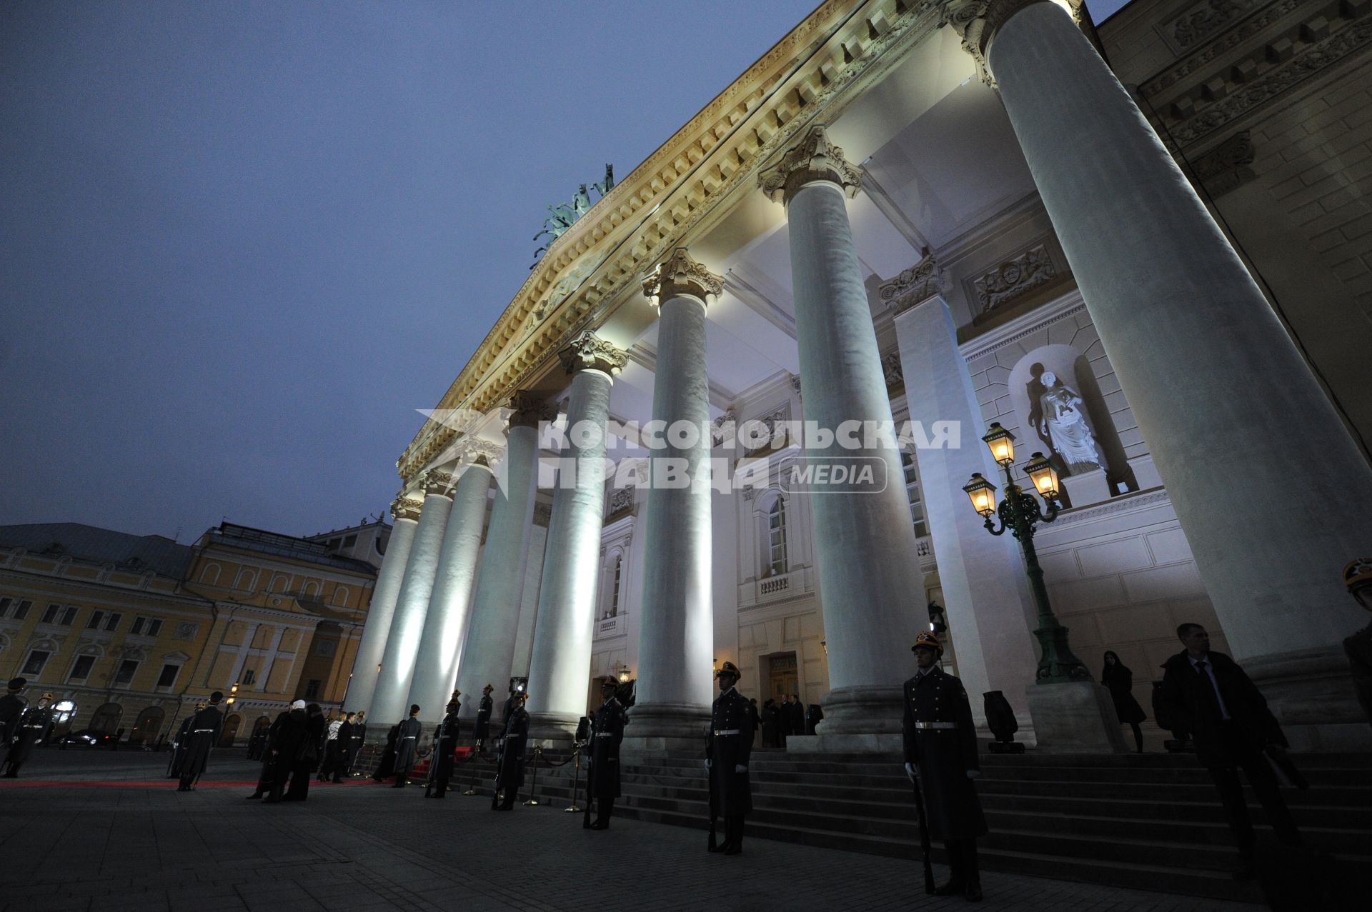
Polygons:
<instances>
[{"instance_id":1,"label":"dark stone steps behind the row of standing guards","mask_svg":"<svg viewBox=\"0 0 1372 912\"><path fill-rule=\"evenodd\" d=\"M541 805L565 808L572 801L573 765L546 765L567 756L543 754ZM1364 879L1372 875L1372 756L1295 760L1310 789L1287 790L1286 797L1312 849L1331 853ZM1218 795L1191 756L988 754L982 764L977 790L991 827L980 842L985 869L1195 897L1259 898L1254 883L1232 878L1238 856ZM756 752L749 768L755 806L749 838L918 859L911 786L897 758ZM490 797L494 764L476 758L454 772L458 791L475 787ZM521 800L531 779L530 771ZM626 757L622 782L617 816L708 827L709 795L698 756ZM1259 841L1270 842L1251 794L1250 805ZM943 861L937 843L934 860Z\"/></svg>"}]
</instances>

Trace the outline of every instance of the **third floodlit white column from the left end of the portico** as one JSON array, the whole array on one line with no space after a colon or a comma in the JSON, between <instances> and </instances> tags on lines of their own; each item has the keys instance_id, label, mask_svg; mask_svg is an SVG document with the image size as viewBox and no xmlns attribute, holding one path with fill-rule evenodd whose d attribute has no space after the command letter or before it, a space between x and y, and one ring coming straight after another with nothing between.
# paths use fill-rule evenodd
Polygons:
<instances>
[{"instance_id":1,"label":"third floodlit white column from the left end of the portico","mask_svg":"<svg viewBox=\"0 0 1372 912\"><path fill-rule=\"evenodd\" d=\"M458 444L453 509L434 573L428 613L424 616L424 632L414 660L414 680L405 701L417 704L421 709L420 719L435 724L443 717L443 708L457 684L457 660L466 640L476 560L482 551L482 529L486 525L486 501L491 490L490 459L498 454L499 447L483 440Z\"/></svg>"}]
</instances>

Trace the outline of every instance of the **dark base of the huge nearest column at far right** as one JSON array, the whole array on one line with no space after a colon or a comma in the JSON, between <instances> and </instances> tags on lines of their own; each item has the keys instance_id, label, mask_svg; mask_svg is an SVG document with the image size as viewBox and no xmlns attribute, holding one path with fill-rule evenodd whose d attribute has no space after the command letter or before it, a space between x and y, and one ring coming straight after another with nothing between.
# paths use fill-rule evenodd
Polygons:
<instances>
[{"instance_id":1,"label":"dark base of the huge nearest column at far right","mask_svg":"<svg viewBox=\"0 0 1372 912\"><path fill-rule=\"evenodd\" d=\"M1254 656L1239 664L1268 698L1292 750L1372 750L1372 727L1342 646Z\"/></svg>"}]
</instances>

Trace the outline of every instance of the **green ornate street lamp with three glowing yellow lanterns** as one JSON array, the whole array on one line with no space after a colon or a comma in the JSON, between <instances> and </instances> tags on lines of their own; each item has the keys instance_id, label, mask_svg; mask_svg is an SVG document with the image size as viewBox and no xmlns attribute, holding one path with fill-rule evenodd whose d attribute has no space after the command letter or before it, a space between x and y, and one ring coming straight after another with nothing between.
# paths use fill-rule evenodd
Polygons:
<instances>
[{"instance_id":1,"label":"green ornate street lamp with three glowing yellow lanterns","mask_svg":"<svg viewBox=\"0 0 1372 912\"><path fill-rule=\"evenodd\" d=\"M1015 436L1002 428L999 422L992 422L982 440L991 447L991 455L995 461L1006 470L1006 496L997 507L996 485L981 477L980 472L973 472L971 481L962 490L971 498L971 507L985 517L988 532L1004 535L1006 529L1010 529L1010 533L1019 540L1019 549L1025 555L1025 572L1029 575L1029 588L1033 590L1034 606L1039 609L1039 629L1033 634L1039 638L1043 656L1039 660L1036 683L1061 684L1073 680L1091 680L1091 672L1081 664L1080 658L1072 654L1072 647L1067 645L1067 628L1059 624L1052 613L1052 605L1048 602L1048 587L1043 584L1043 568L1039 566L1039 553L1033 547L1034 525L1052 523L1058 518L1058 510L1062 507L1058 501L1058 472L1041 453L1034 453L1024 466L1034 490L1048 505L1048 512L1044 513L1034 495L1015 484L1011 475L1011 466L1015 462ZM992 523L992 514L1000 517L1000 528Z\"/></svg>"}]
</instances>

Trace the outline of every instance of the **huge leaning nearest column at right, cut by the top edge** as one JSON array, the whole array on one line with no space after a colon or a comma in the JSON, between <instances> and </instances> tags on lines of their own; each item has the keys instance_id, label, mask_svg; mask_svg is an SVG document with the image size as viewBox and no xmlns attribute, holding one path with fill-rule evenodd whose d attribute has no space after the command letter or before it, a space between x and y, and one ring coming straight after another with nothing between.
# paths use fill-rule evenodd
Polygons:
<instances>
[{"instance_id":1,"label":"huge leaning nearest column at right, cut by the top edge","mask_svg":"<svg viewBox=\"0 0 1372 912\"><path fill-rule=\"evenodd\" d=\"M1340 649L1367 616L1338 584L1345 561L1372 551L1372 470L1072 18L1054 3L975 8L985 18L965 22L966 47L989 45L1029 171L1235 657L1294 745L1372 743Z\"/></svg>"}]
</instances>

